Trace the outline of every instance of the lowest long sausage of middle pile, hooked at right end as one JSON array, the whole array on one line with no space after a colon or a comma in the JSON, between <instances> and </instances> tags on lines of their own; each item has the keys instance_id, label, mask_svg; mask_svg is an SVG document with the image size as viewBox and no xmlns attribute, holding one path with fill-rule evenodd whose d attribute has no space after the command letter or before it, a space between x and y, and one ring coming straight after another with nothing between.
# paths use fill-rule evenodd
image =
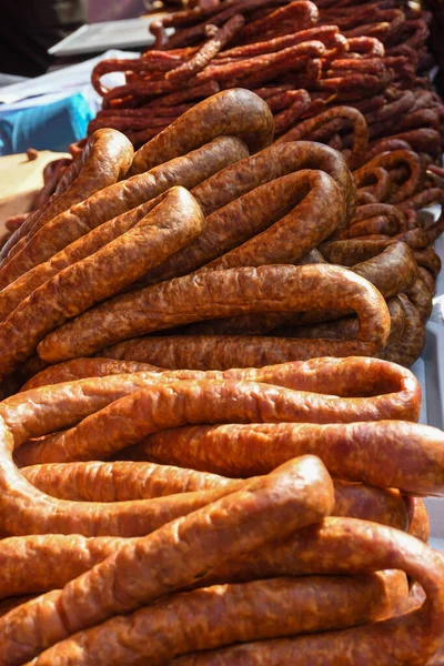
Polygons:
<instances>
[{"instance_id":1,"label":"lowest long sausage of middle pile, hooked at right end","mask_svg":"<svg viewBox=\"0 0 444 666\"><path fill-rule=\"evenodd\" d=\"M218 303L219 294L223 294L223 302ZM38 353L44 361L63 361L90 355L132 335L201 319L249 312L305 311L314 304L316 307L340 305L355 310L360 317L359 336L339 346L317 341L314 347L310 341L300 341L294 347L295 355L300 353L305 359L329 352L330 355L372 355L385 344L390 315L375 287L344 269L314 264L204 271L202 275L178 278L124 294L48 335L39 344ZM103 313L107 313L107 320ZM110 317L112 325L107 324L111 324Z\"/></svg>"}]
</instances>

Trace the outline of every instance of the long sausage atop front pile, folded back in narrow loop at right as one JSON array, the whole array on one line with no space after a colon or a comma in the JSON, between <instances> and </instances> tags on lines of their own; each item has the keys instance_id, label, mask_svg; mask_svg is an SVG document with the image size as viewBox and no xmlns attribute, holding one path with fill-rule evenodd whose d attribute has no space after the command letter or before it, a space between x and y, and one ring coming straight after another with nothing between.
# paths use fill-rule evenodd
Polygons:
<instances>
[{"instance_id":1,"label":"long sausage atop front pile, folded back in narrow loop at right","mask_svg":"<svg viewBox=\"0 0 444 666\"><path fill-rule=\"evenodd\" d=\"M332 407L344 422L420 417L421 385L408 370L380 359L312 359L262 369L226 372L142 372L43 386L13 395L0 403L0 415L11 430L16 448L30 437L63 430L110 403L147 386L178 380L238 380L261 382L304 392L300 395L305 418ZM324 395L319 395L324 394ZM315 408L316 405L316 408ZM331 418L333 415L331 414Z\"/></svg>"}]
</instances>

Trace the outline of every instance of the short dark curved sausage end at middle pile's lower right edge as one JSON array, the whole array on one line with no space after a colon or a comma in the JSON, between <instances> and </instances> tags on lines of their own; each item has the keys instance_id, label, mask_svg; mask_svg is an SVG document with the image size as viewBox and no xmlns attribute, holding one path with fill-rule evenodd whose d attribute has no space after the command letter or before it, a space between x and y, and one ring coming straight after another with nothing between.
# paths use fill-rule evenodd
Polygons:
<instances>
[{"instance_id":1,"label":"short dark curved sausage end at middle pile's lower right edge","mask_svg":"<svg viewBox=\"0 0 444 666\"><path fill-rule=\"evenodd\" d=\"M425 326L420 311L404 296L400 296L406 313L401 340L387 346L381 357L410 367L421 356L425 344Z\"/></svg>"}]
</instances>

